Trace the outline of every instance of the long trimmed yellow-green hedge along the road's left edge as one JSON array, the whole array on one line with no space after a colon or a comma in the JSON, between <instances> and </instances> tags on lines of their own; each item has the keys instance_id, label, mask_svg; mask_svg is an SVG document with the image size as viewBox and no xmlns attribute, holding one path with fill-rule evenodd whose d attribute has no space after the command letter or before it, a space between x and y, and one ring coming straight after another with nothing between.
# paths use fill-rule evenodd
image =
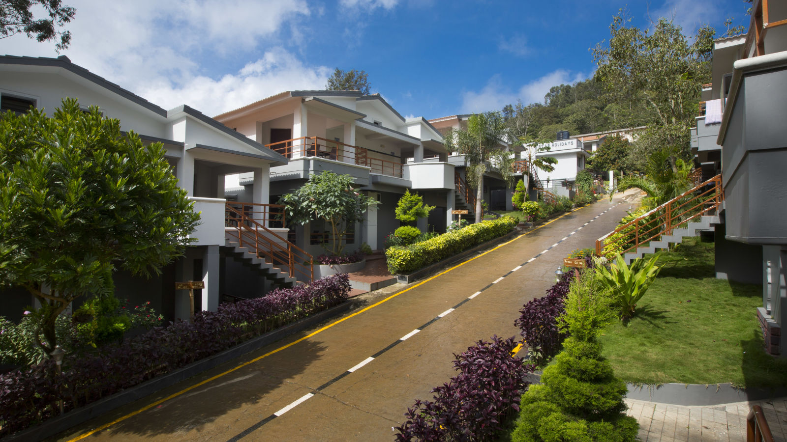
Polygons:
<instances>
[{"instance_id":1,"label":"long trimmed yellow-green hedge along the road's left edge","mask_svg":"<svg viewBox=\"0 0 787 442\"><path fill-rule=\"evenodd\" d=\"M445 260L484 241L501 237L516 227L517 220L503 216L493 221L471 224L464 229L442 234L412 245L393 246L386 250L388 271L408 274L439 260Z\"/></svg>"}]
</instances>

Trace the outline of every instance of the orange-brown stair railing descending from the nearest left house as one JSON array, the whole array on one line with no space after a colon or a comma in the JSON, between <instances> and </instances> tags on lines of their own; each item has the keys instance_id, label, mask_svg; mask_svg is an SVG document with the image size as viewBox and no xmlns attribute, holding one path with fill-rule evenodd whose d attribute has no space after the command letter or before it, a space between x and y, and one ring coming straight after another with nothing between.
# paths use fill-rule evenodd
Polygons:
<instances>
[{"instance_id":1,"label":"orange-brown stair railing descending from the nearest left house","mask_svg":"<svg viewBox=\"0 0 787 442\"><path fill-rule=\"evenodd\" d=\"M258 258L270 263L300 282L314 279L312 256L308 252L280 237L257 219L227 204L227 225L233 227L231 236L238 245L246 247ZM234 225L230 225L234 224ZM277 241L278 240L278 241Z\"/></svg>"}]
</instances>

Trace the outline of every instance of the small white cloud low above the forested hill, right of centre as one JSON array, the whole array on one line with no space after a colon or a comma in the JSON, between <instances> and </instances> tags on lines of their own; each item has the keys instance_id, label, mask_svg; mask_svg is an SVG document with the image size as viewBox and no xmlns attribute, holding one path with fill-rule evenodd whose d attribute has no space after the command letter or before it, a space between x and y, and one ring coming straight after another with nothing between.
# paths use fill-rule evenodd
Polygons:
<instances>
[{"instance_id":1,"label":"small white cloud low above the forested hill, right of centre","mask_svg":"<svg viewBox=\"0 0 787 442\"><path fill-rule=\"evenodd\" d=\"M482 90L464 92L461 109L462 112L486 112L503 109L504 105L514 104L516 101L522 101L525 105L543 103L544 96L551 87L576 83L585 78L580 72L572 75L571 72L558 69L514 91L501 82L500 76L495 75Z\"/></svg>"}]
</instances>

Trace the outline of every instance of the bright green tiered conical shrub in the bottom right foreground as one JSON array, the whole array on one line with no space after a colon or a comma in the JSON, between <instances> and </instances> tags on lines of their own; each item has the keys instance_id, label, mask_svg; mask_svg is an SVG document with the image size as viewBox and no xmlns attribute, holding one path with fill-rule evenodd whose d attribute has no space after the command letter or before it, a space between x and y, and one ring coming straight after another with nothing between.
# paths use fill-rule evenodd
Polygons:
<instances>
[{"instance_id":1,"label":"bright green tiered conical shrub in the bottom right foreground","mask_svg":"<svg viewBox=\"0 0 787 442\"><path fill-rule=\"evenodd\" d=\"M571 284L566 313L560 318L563 352L545 368L541 385L522 396L514 442L628 442L637 437L637 420L626 416L626 384L615 378L597 341L615 319L608 293L597 285L594 272Z\"/></svg>"}]
</instances>

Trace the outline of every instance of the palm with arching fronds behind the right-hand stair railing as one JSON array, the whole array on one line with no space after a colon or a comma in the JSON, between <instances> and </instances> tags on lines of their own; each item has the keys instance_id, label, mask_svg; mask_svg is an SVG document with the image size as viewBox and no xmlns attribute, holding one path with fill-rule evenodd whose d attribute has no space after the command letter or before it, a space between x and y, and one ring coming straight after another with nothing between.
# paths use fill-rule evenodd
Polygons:
<instances>
[{"instance_id":1,"label":"palm with arching fronds behind the right-hand stair railing","mask_svg":"<svg viewBox=\"0 0 787 442\"><path fill-rule=\"evenodd\" d=\"M642 207L650 210L691 189L691 171L692 164L678 158L675 149L667 147L651 153L645 166L645 176L623 177L615 191L623 192L632 188L642 190L645 192Z\"/></svg>"}]
</instances>

